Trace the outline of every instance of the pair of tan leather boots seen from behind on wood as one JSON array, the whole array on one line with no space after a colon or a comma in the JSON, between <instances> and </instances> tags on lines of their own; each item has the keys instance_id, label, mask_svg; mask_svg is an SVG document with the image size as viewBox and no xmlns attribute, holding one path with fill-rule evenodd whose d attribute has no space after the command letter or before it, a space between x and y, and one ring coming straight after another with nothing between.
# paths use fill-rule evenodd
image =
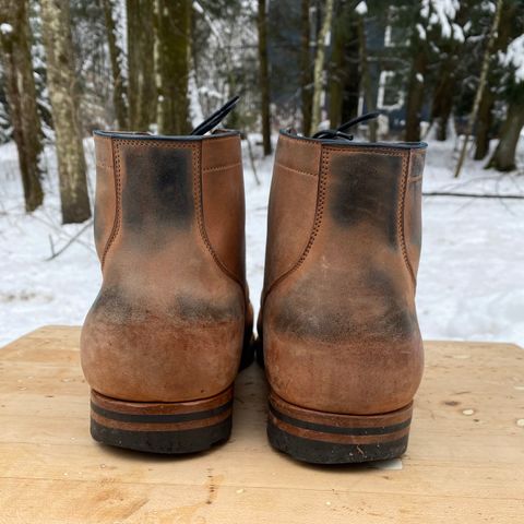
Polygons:
<instances>
[{"instance_id":1,"label":"pair of tan leather boots seen from behind on wood","mask_svg":"<svg viewBox=\"0 0 524 524\"><path fill-rule=\"evenodd\" d=\"M240 136L96 132L103 286L82 366L100 442L189 453L227 440L253 356ZM422 143L282 131L259 359L272 445L311 463L401 455L422 373L415 311Z\"/></svg>"}]
</instances>

